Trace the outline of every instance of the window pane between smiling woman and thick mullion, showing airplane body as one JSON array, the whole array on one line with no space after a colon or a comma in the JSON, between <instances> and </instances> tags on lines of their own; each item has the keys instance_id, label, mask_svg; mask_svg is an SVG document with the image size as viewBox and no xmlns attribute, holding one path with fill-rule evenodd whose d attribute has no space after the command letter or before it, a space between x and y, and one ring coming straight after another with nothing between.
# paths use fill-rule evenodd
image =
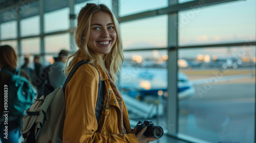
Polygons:
<instances>
[{"instance_id":1,"label":"window pane between smiling woman and thick mullion, showing airplane body","mask_svg":"<svg viewBox=\"0 0 256 143\"><path fill-rule=\"evenodd\" d=\"M138 121L147 119L165 130L163 105L167 96L167 51L124 52L124 57L118 89L129 111L132 128ZM160 116L158 121L157 115ZM163 138L159 140L168 142Z\"/></svg>"}]
</instances>

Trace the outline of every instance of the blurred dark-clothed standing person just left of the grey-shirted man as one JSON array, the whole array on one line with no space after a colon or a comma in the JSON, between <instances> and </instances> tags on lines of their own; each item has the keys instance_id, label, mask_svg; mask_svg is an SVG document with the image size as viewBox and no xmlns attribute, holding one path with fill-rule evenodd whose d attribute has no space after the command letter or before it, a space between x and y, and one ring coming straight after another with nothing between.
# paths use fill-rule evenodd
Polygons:
<instances>
[{"instance_id":1,"label":"blurred dark-clothed standing person just left of the grey-shirted man","mask_svg":"<svg viewBox=\"0 0 256 143\"><path fill-rule=\"evenodd\" d=\"M42 87L43 81L40 78L43 69L44 67L40 64L40 57L34 56L34 70L32 74L32 83L37 89L37 99L39 99L44 93Z\"/></svg>"}]
</instances>

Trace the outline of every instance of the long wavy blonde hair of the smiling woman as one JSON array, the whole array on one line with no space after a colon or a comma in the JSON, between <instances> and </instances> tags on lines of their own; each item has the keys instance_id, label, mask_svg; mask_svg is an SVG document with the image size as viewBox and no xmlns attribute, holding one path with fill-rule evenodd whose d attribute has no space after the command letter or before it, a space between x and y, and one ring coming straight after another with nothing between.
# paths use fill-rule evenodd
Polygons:
<instances>
[{"instance_id":1,"label":"long wavy blonde hair of the smiling woman","mask_svg":"<svg viewBox=\"0 0 256 143\"><path fill-rule=\"evenodd\" d=\"M90 50L87 45L90 36L91 19L93 14L96 12L106 12L111 16L117 34L115 44L113 45L110 53L104 56L104 59ZM85 56L84 60L89 60L90 63L99 66L101 70L108 72L111 79L115 82L117 80L116 74L118 72L118 68L120 64L122 65L124 57L119 23L111 10L103 4L87 4L85 7L83 7L77 17L75 40L79 49L73 55L68 57L65 73L71 70L72 66L76 63L79 54L82 54ZM72 60L67 68L70 58L72 58Z\"/></svg>"}]
</instances>

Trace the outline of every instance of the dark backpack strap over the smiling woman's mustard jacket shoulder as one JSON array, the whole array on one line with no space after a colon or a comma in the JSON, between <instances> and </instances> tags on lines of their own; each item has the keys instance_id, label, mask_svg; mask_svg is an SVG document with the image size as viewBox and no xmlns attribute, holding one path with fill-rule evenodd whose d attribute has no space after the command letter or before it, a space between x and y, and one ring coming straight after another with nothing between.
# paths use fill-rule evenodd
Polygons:
<instances>
[{"instance_id":1,"label":"dark backpack strap over the smiling woman's mustard jacket shoulder","mask_svg":"<svg viewBox=\"0 0 256 143\"><path fill-rule=\"evenodd\" d=\"M67 77L67 79L66 79L66 81L65 81L65 83L64 83L64 85L63 85L63 87L62 87L64 96L65 96L65 89L66 89L67 84L69 83L69 81L71 80L71 78L73 77L73 75L75 74L75 72L76 72L76 70L78 69L78 67L81 66L81 65L83 65L83 64L85 64L85 63L91 64L91 63L88 62L88 60L81 60L81 61L77 62L77 63L73 66L73 68L71 69L70 74L68 75L68 77ZM91 64L91 65L93 65L93 64ZM93 65L93 66L94 66L94 65ZM94 67L97 69L96 66L94 66ZM99 74L99 70L98 70L98 69L97 69L97 71L98 71L98 74ZM103 83L104 83L104 81L103 81ZM98 107L98 104L100 103L100 102L99 102L99 96L100 96L100 97L104 97L104 91L105 91L105 88L104 88L104 87L105 87L105 86L102 85L102 81L100 80L100 75L99 75L98 97L97 97L96 107ZM64 97L64 98L65 98L65 97ZM100 114L101 114L101 110L95 110L95 114L96 114L96 118L97 118L97 122L98 122L99 117L100 117Z\"/></svg>"}]
</instances>

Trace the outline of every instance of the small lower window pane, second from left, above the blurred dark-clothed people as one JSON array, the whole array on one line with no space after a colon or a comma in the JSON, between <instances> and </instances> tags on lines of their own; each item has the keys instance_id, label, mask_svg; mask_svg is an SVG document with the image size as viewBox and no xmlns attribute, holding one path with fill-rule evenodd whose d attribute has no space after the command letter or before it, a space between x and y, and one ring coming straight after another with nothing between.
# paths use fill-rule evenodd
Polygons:
<instances>
[{"instance_id":1,"label":"small lower window pane, second from left, above the blurred dark-clothed people","mask_svg":"<svg viewBox=\"0 0 256 143\"><path fill-rule=\"evenodd\" d=\"M20 41L22 45L22 54L40 54L40 38L26 38Z\"/></svg>"}]
</instances>

